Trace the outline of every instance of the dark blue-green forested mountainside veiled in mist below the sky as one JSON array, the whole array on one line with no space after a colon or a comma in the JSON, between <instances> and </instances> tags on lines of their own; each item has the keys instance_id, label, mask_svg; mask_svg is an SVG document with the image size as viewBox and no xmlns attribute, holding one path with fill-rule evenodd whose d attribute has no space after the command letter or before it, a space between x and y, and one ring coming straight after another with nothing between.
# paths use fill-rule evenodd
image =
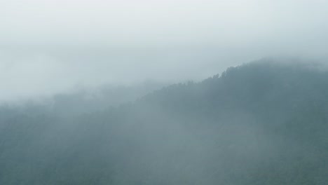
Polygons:
<instances>
[{"instance_id":1,"label":"dark blue-green forested mountainside veiled in mist below the sky","mask_svg":"<svg viewBox=\"0 0 328 185\"><path fill-rule=\"evenodd\" d=\"M328 181L328 72L315 64L251 62L119 106L62 97L61 111L1 107L0 184ZM67 114L88 104L101 106Z\"/></svg>"}]
</instances>

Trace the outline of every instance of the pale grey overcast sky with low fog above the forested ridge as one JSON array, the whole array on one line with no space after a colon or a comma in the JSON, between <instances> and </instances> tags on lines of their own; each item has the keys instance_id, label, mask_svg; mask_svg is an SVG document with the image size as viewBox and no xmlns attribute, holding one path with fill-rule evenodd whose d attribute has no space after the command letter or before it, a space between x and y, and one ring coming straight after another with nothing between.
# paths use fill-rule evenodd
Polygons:
<instances>
[{"instance_id":1,"label":"pale grey overcast sky with low fog above the forested ridge","mask_svg":"<svg viewBox=\"0 0 328 185\"><path fill-rule=\"evenodd\" d=\"M324 59L328 1L0 0L0 100Z\"/></svg>"}]
</instances>

